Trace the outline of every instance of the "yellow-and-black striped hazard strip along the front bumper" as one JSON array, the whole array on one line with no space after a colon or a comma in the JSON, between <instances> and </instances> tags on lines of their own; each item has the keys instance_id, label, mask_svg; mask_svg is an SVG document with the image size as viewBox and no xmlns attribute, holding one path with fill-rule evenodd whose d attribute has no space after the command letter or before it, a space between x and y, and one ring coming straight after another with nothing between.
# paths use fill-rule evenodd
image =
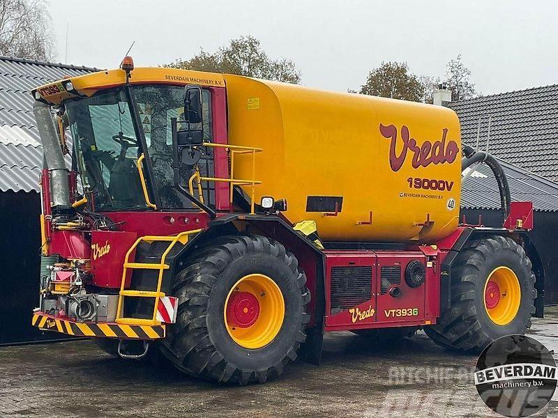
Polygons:
<instances>
[{"instance_id":1,"label":"yellow-and-black striped hazard strip along the front bumper","mask_svg":"<svg viewBox=\"0 0 558 418\"><path fill-rule=\"evenodd\" d=\"M43 312L35 312L31 325L41 330L62 332L75 336L103 336L124 339L165 338L166 326L161 325L123 325L117 323L77 323L73 320L54 318Z\"/></svg>"}]
</instances>

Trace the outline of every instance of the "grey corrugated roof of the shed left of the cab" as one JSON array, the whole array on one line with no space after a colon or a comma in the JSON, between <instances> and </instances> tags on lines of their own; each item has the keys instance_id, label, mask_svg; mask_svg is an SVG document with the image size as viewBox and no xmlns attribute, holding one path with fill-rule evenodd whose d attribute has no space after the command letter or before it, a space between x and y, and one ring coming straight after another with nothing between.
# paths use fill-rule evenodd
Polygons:
<instances>
[{"instance_id":1,"label":"grey corrugated roof of the shed left of the cab","mask_svg":"<svg viewBox=\"0 0 558 418\"><path fill-rule=\"evenodd\" d=\"M43 148L35 127L31 89L93 71L98 69L0 56L1 191L39 191Z\"/></svg>"}]
</instances>

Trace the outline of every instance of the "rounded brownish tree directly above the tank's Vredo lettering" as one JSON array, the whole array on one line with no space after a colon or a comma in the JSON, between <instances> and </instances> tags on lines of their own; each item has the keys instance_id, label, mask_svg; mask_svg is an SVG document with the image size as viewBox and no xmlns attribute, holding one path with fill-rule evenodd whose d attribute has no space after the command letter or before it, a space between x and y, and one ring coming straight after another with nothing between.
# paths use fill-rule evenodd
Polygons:
<instances>
[{"instance_id":1,"label":"rounded brownish tree directly above the tank's Vredo lettering","mask_svg":"<svg viewBox=\"0 0 558 418\"><path fill-rule=\"evenodd\" d=\"M359 93L421 102L424 86L416 75L409 72L407 63L384 62L370 72Z\"/></svg>"}]
</instances>

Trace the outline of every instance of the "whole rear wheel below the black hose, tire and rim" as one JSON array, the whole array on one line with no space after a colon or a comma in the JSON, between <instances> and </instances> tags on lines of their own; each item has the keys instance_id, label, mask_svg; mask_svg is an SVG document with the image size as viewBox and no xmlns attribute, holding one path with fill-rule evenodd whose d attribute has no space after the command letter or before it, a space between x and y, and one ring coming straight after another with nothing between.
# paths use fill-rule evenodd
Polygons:
<instances>
[{"instance_id":1,"label":"whole rear wheel below the black hose, tire and rim","mask_svg":"<svg viewBox=\"0 0 558 418\"><path fill-rule=\"evenodd\" d=\"M525 334L536 298L531 267L509 237L469 242L451 270L451 307L424 331L440 346L476 353L501 336Z\"/></svg>"}]
</instances>

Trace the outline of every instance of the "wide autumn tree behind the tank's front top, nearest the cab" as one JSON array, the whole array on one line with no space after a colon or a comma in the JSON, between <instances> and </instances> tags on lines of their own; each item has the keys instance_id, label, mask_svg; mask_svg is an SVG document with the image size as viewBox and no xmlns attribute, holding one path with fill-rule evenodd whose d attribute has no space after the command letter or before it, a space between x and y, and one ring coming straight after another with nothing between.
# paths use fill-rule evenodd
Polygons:
<instances>
[{"instance_id":1,"label":"wide autumn tree behind the tank's front top, nearest the cab","mask_svg":"<svg viewBox=\"0 0 558 418\"><path fill-rule=\"evenodd\" d=\"M226 72L278 82L300 84L301 72L289 59L270 59L259 40L253 36L241 36L220 47L213 54L200 49L190 59L177 59L165 67L184 68L209 72Z\"/></svg>"}]
</instances>

